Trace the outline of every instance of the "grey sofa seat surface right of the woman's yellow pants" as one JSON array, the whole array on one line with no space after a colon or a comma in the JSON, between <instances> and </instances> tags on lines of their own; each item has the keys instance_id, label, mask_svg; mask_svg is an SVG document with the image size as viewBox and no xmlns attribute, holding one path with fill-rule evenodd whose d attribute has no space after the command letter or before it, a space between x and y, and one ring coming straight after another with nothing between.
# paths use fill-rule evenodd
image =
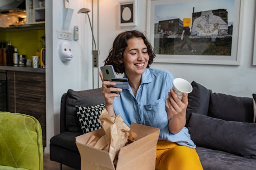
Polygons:
<instances>
[{"instance_id":1,"label":"grey sofa seat surface right of the woman's yellow pants","mask_svg":"<svg viewBox=\"0 0 256 170\"><path fill-rule=\"evenodd\" d=\"M196 147L203 170L255 170L256 160L223 151Z\"/></svg>"}]
</instances>

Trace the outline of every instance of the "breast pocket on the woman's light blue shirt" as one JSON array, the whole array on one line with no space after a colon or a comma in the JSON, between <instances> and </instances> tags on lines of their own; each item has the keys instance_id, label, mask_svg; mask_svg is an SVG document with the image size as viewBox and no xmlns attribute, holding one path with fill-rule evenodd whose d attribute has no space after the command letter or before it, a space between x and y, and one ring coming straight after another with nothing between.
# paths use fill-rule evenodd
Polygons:
<instances>
[{"instance_id":1,"label":"breast pocket on the woman's light blue shirt","mask_svg":"<svg viewBox=\"0 0 256 170\"><path fill-rule=\"evenodd\" d=\"M144 105L143 116L145 125L164 129L168 125L165 101L158 99L150 104Z\"/></svg>"}]
</instances>

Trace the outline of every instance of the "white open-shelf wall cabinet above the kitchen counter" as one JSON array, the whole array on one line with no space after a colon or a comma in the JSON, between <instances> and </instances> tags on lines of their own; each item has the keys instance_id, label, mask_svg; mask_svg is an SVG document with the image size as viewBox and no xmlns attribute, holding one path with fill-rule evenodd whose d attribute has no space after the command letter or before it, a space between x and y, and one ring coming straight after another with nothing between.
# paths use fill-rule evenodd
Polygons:
<instances>
[{"instance_id":1,"label":"white open-shelf wall cabinet above the kitchen counter","mask_svg":"<svg viewBox=\"0 0 256 170\"><path fill-rule=\"evenodd\" d=\"M26 23L45 23L45 0L26 0Z\"/></svg>"}]
</instances>

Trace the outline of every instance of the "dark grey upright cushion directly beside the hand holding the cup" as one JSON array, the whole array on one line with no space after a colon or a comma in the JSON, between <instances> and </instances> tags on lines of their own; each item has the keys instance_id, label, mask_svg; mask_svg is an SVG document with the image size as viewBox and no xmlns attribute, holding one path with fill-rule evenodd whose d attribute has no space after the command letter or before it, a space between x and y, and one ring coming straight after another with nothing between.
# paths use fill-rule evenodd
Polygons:
<instances>
[{"instance_id":1,"label":"dark grey upright cushion directly beside the hand holding the cup","mask_svg":"<svg viewBox=\"0 0 256 170\"><path fill-rule=\"evenodd\" d=\"M188 105L186 109L186 120L192 112L207 115L211 90L195 81L191 82L193 90L188 94ZM187 122L186 121L186 122Z\"/></svg>"}]
</instances>

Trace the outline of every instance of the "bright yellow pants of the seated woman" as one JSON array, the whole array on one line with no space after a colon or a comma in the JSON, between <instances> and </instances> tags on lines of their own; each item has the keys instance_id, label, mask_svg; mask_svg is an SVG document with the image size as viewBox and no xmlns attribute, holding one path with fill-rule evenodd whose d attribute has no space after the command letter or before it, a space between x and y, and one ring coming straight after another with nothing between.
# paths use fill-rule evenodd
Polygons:
<instances>
[{"instance_id":1,"label":"bright yellow pants of the seated woman","mask_svg":"<svg viewBox=\"0 0 256 170\"><path fill-rule=\"evenodd\" d=\"M158 140L155 170L203 170L193 148Z\"/></svg>"}]
</instances>

